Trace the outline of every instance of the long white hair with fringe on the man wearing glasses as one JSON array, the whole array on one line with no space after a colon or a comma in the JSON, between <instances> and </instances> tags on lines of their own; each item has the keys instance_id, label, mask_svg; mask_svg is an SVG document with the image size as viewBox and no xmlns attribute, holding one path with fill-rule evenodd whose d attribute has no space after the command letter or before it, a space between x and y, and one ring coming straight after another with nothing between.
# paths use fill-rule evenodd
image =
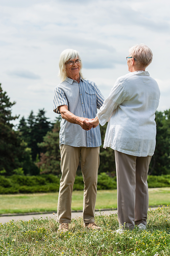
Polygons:
<instances>
[{"instance_id":1,"label":"long white hair with fringe on the man wearing glasses","mask_svg":"<svg viewBox=\"0 0 170 256\"><path fill-rule=\"evenodd\" d=\"M60 54L60 59L59 59L59 72L58 72L58 76L61 78L61 82L63 82L64 80L66 80L66 77L67 77L67 72L66 72L66 63L69 61L69 60L72 60L72 59L75 59L75 58L79 58L80 60L81 57L79 55L79 52L76 51L76 50L73 50L73 49L66 49L64 50L61 54ZM79 71L79 74L81 76L82 79L85 79L83 77L83 74L82 74L82 62L80 62L80 71Z\"/></svg>"}]
</instances>

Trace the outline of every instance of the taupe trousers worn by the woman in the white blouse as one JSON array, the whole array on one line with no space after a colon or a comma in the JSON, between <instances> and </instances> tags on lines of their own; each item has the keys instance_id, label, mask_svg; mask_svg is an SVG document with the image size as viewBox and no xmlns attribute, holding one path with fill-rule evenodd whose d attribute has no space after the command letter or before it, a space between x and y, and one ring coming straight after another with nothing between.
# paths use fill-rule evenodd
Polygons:
<instances>
[{"instance_id":1,"label":"taupe trousers worn by the woman in the white blouse","mask_svg":"<svg viewBox=\"0 0 170 256\"><path fill-rule=\"evenodd\" d=\"M115 150L119 226L147 224L148 170L152 156L136 157ZM125 224L124 224L125 223Z\"/></svg>"}]
</instances>

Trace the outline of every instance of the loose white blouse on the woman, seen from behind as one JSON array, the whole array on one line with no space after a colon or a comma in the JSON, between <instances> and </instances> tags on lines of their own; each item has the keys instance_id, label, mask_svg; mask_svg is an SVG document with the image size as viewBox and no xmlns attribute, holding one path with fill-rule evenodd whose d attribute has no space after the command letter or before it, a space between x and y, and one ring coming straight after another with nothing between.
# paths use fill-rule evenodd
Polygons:
<instances>
[{"instance_id":1,"label":"loose white blouse on the woman, seen from behind","mask_svg":"<svg viewBox=\"0 0 170 256\"><path fill-rule=\"evenodd\" d=\"M108 121L103 147L132 156L152 156L159 96L158 84L147 71L119 77L97 113L102 126Z\"/></svg>"}]
</instances>

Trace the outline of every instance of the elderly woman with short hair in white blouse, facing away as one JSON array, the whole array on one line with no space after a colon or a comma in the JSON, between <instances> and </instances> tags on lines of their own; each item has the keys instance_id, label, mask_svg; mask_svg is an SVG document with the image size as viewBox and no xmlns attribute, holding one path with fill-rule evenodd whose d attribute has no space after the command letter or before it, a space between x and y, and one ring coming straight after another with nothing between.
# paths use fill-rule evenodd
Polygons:
<instances>
[{"instance_id":1,"label":"elderly woman with short hair in white blouse, facing away","mask_svg":"<svg viewBox=\"0 0 170 256\"><path fill-rule=\"evenodd\" d=\"M130 73L118 78L108 98L89 123L108 120L104 148L115 150L119 229L146 229L149 205L147 174L155 149L155 111L160 91L146 67L152 51L133 46L126 57Z\"/></svg>"}]
</instances>

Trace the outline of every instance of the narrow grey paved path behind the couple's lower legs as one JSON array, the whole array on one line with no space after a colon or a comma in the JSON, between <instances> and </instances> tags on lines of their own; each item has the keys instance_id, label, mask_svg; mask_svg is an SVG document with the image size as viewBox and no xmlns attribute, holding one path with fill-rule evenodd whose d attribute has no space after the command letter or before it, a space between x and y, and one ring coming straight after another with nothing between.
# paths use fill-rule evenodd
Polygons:
<instances>
[{"instance_id":1,"label":"narrow grey paved path behind the couple's lower legs","mask_svg":"<svg viewBox=\"0 0 170 256\"><path fill-rule=\"evenodd\" d=\"M151 208L151 210L155 210L156 208L158 207L154 207L154 208ZM150 210L150 209L148 209ZM110 214L114 214L114 213L117 213L117 210L101 210L101 213L99 211L96 211L95 214L97 215L110 215ZM71 218L74 219L76 217L79 217L79 216L82 216L82 212L72 212L71 214ZM35 219L39 219L39 218L43 218L45 219L46 217L48 217L48 219L50 218L54 218L56 219L56 213L53 215L52 213L46 213L46 214L32 214L32 215L15 215L15 216L0 216L0 223L4 224L6 222L9 222L10 220L14 219L15 221L17 220L31 220L33 218Z\"/></svg>"}]
</instances>

